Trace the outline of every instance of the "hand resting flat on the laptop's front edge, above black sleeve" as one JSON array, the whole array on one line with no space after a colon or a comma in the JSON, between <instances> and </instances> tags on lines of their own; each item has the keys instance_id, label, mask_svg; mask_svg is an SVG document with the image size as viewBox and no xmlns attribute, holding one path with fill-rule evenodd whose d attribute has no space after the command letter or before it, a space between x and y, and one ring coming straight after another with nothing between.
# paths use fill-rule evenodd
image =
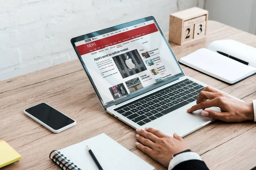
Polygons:
<instances>
[{"instance_id":1,"label":"hand resting flat on the laptop's front edge, above black sleeve","mask_svg":"<svg viewBox=\"0 0 256 170\"><path fill-rule=\"evenodd\" d=\"M176 133L171 137L148 127L145 130L136 129L136 131L136 139L140 142L136 142L136 146L165 167L168 167L173 154L189 149Z\"/></svg>"}]
</instances>

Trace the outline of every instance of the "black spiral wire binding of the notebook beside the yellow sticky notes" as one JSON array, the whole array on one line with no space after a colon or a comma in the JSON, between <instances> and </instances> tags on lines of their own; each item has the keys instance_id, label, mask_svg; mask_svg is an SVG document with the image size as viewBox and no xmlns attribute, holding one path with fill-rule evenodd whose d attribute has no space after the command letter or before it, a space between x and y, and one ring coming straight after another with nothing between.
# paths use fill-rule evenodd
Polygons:
<instances>
[{"instance_id":1,"label":"black spiral wire binding of the notebook beside the yellow sticky notes","mask_svg":"<svg viewBox=\"0 0 256 170\"><path fill-rule=\"evenodd\" d=\"M81 170L58 150L52 150L49 158L62 170Z\"/></svg>"}]
</instances>

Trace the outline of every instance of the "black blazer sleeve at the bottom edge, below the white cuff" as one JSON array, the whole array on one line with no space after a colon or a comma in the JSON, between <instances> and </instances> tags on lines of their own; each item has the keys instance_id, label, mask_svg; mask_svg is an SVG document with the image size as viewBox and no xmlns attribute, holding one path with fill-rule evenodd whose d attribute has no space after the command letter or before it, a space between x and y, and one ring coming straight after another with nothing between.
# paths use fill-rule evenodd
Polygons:
<instances>
[{"instance_id":1,"label":"black blazer sleeve at the bottom edge, below the white cuff","mask_svg":"<svg viewBox=\"0 0 256 170\"><path fill-rule=\"evenodd\" d=\"M192 159L177 164L172 170L209 170L204 161Z\"/></svg>"}]
</instances>

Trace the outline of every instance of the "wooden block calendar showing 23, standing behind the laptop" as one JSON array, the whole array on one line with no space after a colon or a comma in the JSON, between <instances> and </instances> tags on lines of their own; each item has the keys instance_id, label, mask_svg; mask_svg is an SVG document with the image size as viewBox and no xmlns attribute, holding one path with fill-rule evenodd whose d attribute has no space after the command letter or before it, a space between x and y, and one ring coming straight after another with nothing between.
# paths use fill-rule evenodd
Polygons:
<instances>
[{"instance_id":1,"label":"wooden block calendar showing 23, standing behind the laptop","mask_svg":"<svg viewBox=\"0 0 256 170\"><path fill-rule=\"evenodd\" d=\"M205 37L208 11L194 7L170 14L169 41L183 45Z\"/></svg>"}]
</instances>

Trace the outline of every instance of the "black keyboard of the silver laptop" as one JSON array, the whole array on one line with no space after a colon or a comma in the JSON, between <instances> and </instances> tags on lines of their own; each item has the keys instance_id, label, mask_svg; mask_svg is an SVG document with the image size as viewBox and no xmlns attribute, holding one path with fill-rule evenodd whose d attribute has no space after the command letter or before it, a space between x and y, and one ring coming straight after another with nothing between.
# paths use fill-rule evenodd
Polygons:
<instances>
[{"instance_id":1,"label":"black keyboard of the silver laptop","mask_svg":"<svg viewBox=\"0 0 256 170\"><path fill-rule=\"evenodd\" d=\"M185 79L163 88L131 103L114 109L118 113L137 123L145 125L163 115L194 102L204 86Z\"/></svg>"}]
</instances>

